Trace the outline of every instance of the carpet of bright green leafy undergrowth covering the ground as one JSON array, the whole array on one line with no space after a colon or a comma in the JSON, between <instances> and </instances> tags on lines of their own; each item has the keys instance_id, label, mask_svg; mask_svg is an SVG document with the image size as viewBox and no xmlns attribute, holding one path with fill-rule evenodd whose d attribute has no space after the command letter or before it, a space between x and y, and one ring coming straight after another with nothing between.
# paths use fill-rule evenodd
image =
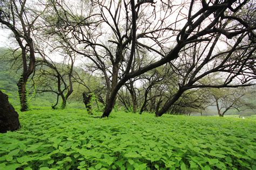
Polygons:
<instances>
[{"instance_id":1,"label":"carpet of bright green leafy undergrowth covering the ground","mask_svg":"<svg viewBox=\"0 0 256 170\"><path fill-rule=\"evenodd\" d=\"M256 169L256 119L83 110L20 113L0 169Z\"/></svg>"}]
</instances>

